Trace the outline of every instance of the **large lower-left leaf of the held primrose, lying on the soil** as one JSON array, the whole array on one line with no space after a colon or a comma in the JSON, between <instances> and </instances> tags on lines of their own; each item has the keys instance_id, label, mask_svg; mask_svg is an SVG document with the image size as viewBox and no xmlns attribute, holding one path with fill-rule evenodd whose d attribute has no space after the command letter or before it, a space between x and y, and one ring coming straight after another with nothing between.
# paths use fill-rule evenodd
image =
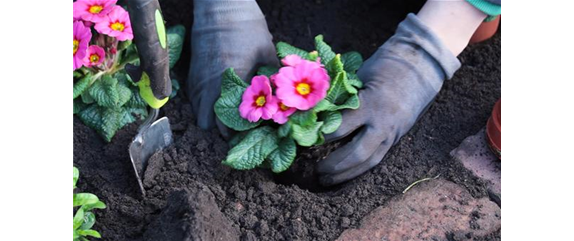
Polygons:
<instances>
[{"instance_id":1,"label":"large lower-left leaf of the held primrose, lying on the soil","mask_svg":"<svg viewBox=\"0 0 574 241\"><path fill-rule=\"evenodd\" d=\"M223 164L238 170L253 169L277 148L277 134L269 126L254 129L233 147Z\"/></svg>"}]
</instances>

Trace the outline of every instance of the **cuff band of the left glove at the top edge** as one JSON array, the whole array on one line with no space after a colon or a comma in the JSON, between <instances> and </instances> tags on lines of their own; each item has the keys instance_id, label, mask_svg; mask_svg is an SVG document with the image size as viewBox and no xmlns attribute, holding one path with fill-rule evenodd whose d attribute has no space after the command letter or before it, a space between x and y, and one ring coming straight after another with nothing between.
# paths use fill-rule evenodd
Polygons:
<instances>
[{"instance_id":1,"label":"cuff band of the left glove at the top edge","mask_svg":"<svg viewBox=\"0 0 574 241\"><path fill-rule=\"evenodd\" d=\"M255 0L194 0L194 25L264 20Z\"/></svg>"}]
</instances>

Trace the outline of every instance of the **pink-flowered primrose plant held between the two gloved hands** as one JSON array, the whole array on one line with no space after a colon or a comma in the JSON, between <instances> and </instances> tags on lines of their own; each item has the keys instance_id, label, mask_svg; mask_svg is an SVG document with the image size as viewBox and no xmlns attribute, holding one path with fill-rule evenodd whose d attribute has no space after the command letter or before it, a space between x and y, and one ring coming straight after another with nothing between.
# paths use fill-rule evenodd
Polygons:
<instances>
[{"instance_id":1,"label":"pink-flowered primrose plant held between the two gloved hands","mask_svg":"<svg viewBox=\"0 0 574 241\"><path fill-rule=\"evenodd\" d=\"M322 35L315 37L313 52L284 42L276 48L282 67L261 67L250 84L232 68L223 74L215 113L239 131L223 161L234 169L283 172L295 160L297 144L323 144L323 135L341 125L340 111L359 108L359 53L336 54Z\"/></svg>"}]
</instances>

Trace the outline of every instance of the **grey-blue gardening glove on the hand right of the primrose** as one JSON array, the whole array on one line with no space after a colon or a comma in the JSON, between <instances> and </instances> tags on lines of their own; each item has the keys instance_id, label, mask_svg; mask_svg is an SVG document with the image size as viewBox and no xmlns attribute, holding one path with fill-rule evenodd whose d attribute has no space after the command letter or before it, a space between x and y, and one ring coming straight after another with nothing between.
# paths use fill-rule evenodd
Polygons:
<instances>
[{"instance_id":1,"label":"grey-blue gardening glove on the hand right of the primrose","mask_svg":"<svg viewBox=\"0 0 574 241\"><path fill-rule=\"evenodd\" d=\"M414 14L357 73L365 83L361 107L343 112L343 124L326 136L351 142L318 163L322 185L338 184L378 164L433 101L444 79L460 67L453 53Z\"/></svg>"}]
</instances>

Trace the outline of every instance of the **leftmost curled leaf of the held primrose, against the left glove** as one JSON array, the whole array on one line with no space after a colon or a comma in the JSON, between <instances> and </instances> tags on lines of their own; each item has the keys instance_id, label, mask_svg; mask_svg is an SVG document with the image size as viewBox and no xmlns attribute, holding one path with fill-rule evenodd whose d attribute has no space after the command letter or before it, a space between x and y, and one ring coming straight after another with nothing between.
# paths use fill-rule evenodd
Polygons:
<instances>
[{"instance_id":1,"label":"leftmost curled leaf of the held primrose, against the left glove","mask_svg":"<svg viewBox=\"0 0 574 241\"><path fill-rule=\"evenodd\" d=\"M241 97L247 84L229 68L223 74L221 96L215 102L215 114L227 127L236 131L246 131L257 127L261 121L249 122L239 114Z\"/></svg>"}]
</instances>

